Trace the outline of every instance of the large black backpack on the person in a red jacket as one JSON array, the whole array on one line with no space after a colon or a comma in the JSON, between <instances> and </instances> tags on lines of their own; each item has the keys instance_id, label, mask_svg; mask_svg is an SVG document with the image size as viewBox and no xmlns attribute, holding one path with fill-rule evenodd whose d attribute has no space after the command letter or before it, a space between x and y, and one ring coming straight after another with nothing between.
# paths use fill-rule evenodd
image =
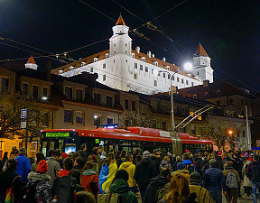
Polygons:
<instances>
[{"instance_id":1,"label":"large black backpack on the person in a red jacket","mask_svg":"<svg viewBox=\"0 0 260 203\"><path fill-rule=\"evenodd\" d=\"M73 203L75 185L72 183L70 176L62 176L53 182L53 195L57 203Z\"/></svg>"}]
</instances>

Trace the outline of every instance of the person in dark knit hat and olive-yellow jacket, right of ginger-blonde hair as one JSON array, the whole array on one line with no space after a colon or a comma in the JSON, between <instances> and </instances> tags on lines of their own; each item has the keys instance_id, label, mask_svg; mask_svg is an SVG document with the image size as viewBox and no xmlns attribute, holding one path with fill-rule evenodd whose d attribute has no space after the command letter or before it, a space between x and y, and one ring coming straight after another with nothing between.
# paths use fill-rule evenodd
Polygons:
<instances>
[{"instance_id":1,"label":"person in dark knit hat and olive-yellow jacket, right of ginger-blonde hair","mask_svg":"<svg viewBox=\"0 0 260 203\"><path fill-rule=\"evenodd\" d=\"M195 199L196 202L201 203L213 203L213 199L211 198L209 191L201 185L201 176L200 173L194 171L190 174L190 194L195 192L197 198Z\"/></svg>"}]
</instances>

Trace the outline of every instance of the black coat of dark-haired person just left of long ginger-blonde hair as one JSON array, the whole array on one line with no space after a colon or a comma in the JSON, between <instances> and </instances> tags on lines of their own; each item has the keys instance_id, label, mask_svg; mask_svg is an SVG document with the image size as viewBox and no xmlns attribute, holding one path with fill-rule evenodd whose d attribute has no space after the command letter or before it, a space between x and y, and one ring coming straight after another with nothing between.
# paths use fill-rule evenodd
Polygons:
<instances>
[{"instance_id":1,"label":"black coat of dark-haired person just left of long ginger-blonde hair","mask_svg":"<svg viewBox=\"0 0 260 203\"><path fill-rule=\"evenodd\" d=\"M167 182L169 182L169 180L161 175L153 178L145 191L144 203L157 203L158 191L159 189L163 189Z\"/></svg>"}]
</instances>

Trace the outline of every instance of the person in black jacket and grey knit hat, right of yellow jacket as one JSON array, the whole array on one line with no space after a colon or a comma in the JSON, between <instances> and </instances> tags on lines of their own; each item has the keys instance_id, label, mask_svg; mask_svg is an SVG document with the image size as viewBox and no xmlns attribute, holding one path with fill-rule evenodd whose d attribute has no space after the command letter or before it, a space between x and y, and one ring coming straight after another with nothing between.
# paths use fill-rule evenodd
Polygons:
<instances>
[{"instance_id":1,"label":"person in black jacket and grey knit hat, right of yellow jacket","mask_svg":"<svg viewBox=\"0 0 260 203\"><path fill-rule=\"evenodd\" d=\"M142 198L144 198L145 189L157 174L157 166L151 160L150 152L144 151L143 157L144 159L137 163L134 175Z\"/></svg>"}]
</instances>

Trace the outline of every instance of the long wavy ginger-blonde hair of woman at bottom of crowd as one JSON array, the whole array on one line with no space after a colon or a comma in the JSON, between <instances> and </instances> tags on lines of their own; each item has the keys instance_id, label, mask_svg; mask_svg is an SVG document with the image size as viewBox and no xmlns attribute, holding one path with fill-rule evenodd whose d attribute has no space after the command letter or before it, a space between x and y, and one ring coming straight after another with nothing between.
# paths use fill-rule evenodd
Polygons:
<instances>
[{"instance_id":1,"label":"long wavy ginger-blonde hair of woman at bottom of crowd","mask_svg":"<svg viewBox=\"0 0 260 203\"><path fill-rule=\"evenodd\" d=\"M167 203L182 203L190 195L189 181L180 172L172 176L169 192L166 195Z\"/></svg>"}]
</instances>

